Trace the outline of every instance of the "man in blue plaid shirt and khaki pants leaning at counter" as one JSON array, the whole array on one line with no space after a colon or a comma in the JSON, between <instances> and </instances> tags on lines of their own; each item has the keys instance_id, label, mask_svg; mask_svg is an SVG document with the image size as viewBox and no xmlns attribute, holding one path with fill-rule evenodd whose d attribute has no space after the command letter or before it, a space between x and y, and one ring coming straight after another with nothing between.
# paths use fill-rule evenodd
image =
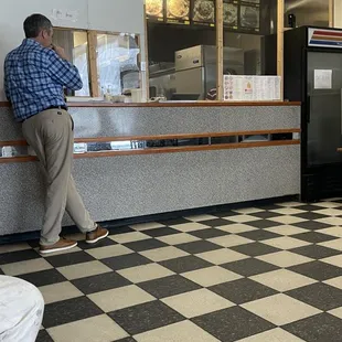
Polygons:
<instances>
[{"instance_id":1,"label":"man in blue plaid shirt and khaki pants leaning at counter","mask_svg":"<svg viewBox=\"0 0 342 342\"><path fill-rule=\"evenodd\" d=\"M79 73L62 47L52 44L53 26L42 14L24 21L26 39L4 61L4 90L15 120L46 173L46 202L40 250L42 254L71 249L76 242L60 238L66 210L86 242L108 235L86 211L72 172L74 122L67 113L63 89L83 87Z\"/></svg>"}]
</instances>

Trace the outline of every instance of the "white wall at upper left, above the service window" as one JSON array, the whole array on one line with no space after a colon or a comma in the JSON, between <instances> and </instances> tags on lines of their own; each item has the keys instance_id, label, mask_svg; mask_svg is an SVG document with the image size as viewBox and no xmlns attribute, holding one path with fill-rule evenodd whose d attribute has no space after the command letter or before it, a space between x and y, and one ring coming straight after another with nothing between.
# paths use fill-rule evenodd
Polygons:
<instances>
[{"instance_id":1,"label":"white wall at upper left, above the service window","mask_svg":"<svg viewBox=\"0 0 342 342\"><path fill-rule=\"evenodd\" d=\"M76 20L56 20L53 10L76 13ZM22 24L32 13L42 13L53 25L140 34L145 61L143 0L1 0L0 9L0 100L3 94L3 61L24 38Z\"/></svg>"}]
</instances>

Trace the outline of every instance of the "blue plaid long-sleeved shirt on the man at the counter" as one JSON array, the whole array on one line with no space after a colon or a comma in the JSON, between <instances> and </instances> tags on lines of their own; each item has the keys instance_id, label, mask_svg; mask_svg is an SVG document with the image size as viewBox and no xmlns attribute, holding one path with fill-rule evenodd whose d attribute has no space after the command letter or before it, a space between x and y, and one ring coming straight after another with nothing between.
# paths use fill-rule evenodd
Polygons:
<instances>
[{"instance_id":1,"label":"blue plaid long-sleeved shirt on the man at the counter","mask_svg":"<svg viewBox=\"0 0 342 342\"><path fill-rule=\"evenodd\" d=\"M76 66L26 39L4 61L4 92L17 121L53 106L65 106L63 88L83 87Z\"/></svg>"}]
</instances>

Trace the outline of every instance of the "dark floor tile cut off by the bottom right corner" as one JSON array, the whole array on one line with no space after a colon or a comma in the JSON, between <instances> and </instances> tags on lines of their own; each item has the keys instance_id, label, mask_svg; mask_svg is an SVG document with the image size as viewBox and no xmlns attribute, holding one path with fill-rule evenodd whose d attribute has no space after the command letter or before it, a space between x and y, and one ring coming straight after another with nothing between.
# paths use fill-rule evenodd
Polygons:
<instances>
[{"instance_id":1,"label":"dark floor tile cut off by the bottom right corner","mask_svg":"<svg viewBox=\"0 0 342 342\"><path fill-rule=\"evenodd\" d=\"M342 321L329 313L321 313L282 327L307 342L342 341Z\"/></svg>"}]
</instances>

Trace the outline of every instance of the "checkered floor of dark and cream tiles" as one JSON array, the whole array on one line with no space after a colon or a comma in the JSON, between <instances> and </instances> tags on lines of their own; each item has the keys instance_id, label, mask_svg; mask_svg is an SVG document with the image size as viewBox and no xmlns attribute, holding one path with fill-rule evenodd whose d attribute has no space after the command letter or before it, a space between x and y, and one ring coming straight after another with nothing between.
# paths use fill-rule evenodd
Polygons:
<instances>
[{"instance_id":1,"label":"checkered floor of dark and cream tiles","mask_svg":"<svg viewBox=\"0 0 342 342\"><path fill-rule=\"evenodd\" d=\"M341 200L121 227L45 258L33 247L0 246L0 268L42 291L39 342L342 341Z\"/></svg>"}]
</instances>

